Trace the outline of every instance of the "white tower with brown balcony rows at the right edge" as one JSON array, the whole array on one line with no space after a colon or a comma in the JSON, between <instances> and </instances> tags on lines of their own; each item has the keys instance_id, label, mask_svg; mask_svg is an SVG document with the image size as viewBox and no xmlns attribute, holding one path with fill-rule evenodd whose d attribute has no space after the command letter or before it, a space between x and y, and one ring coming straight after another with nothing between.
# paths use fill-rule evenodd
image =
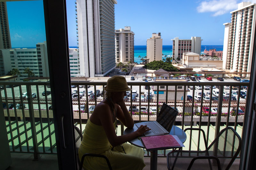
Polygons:
<instances>
[{"instance_id":1,"label":"white tower with brown balcony rows at the right edge","mask_svg":"<svg viewBox=\"0 0 256 170\"><path fill-rule=\"evenodd\" d=\"M251 71L255 5L251 2L238 4L238 9L230 12L231 23L223 24L225 25L223 69L236 72Z\"/></svg>"}]
</instances>

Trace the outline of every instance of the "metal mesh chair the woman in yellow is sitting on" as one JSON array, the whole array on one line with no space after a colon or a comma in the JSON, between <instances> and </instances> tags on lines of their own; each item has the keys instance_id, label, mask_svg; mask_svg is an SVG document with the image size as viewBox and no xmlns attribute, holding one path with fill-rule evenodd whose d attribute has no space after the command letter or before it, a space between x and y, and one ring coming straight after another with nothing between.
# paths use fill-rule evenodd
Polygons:
<instances>
[{"instance_id":1,"label":"metal mesh chair the woman in yellow is sitting on","mask_svg":"<svg viewBox=\"0 0 256 170\"><path fill-rule=\"evenodd\" d=\"M110 162L108 160L108 158L105 156L105 155L100 155L100 154L94 154L94 153L85 153L82 158L81 158L81 162L80 162L80 159L79 159L79 155L78 155L78 149L81 145L81 141L83 139L83 135L80 131L79 128L77 128L76 126L74 126L75 128L75 142L76 142L76 165L77 165L77 169L79 170L84 170L83 168L83 163L84 163L84 158L86 156L92 156L92 157L100 157L100 158L103 158L107 161L107 164L108 164L108 168L110 170L112 170L112 167L110 165Z\"/></svg>"}]
</instances>

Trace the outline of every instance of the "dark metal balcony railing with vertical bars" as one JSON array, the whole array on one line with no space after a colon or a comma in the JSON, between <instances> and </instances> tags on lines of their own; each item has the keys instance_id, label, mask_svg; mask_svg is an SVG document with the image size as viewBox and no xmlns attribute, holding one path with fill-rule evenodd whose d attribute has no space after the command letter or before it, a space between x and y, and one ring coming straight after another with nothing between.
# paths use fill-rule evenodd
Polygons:
<instances>
[{"instance_id":1,"label":"dark metal balcony railing with vertical bars","mask_svg":"<svg viewBox=\"0 0 256 170\"><path fill-rule=\"evenodd\" d=\"M6 118L6 129L8 132L8 139L11 152L25 152L25 153L47 153L56 154L56 142L55 132L53 125L53 113L52 113L52 99L50 95L42 96L43 91L50 91L49 82L0 82L3 86L3 90L0 92L0 102L3 103L2 110ZM97 97L94 95L93 99L90 99L87 95L88 91L93 91L97 94L98 87L103 88L107 85L107 82L71 82L71 85L77 85L76 90L79 94L80 91L85 91L84 97L79 99L72 99L73 106L77 105L78 109L73 110L74 122L81 130L84 126L82 122L90 117L91 111L89 105L97 105L104 97ZM139 107L135 112L131 112L131 115L135 122L140 121L153 121L156 120L158 112L162 103L178 108L179 115L176 118L176 125L181 129L186 127L197 126L199 128L206 129L206 138L208 144L210 144L211 131L214 130L214 134L217 135L223 126L233 126L242 131L243 128L243 114L240 113L240 108L245 108L246 100L240 100L240 92L242 86L248 86L246 82L128 82L128 85L134 90L137 90L139 98L135 100L125 100L126 106ZM144 89L147 85L150 88ZM213 94L210 93L210 100L195 100L195 86L201 85L204 94L204 86L210 86L210 92L213 92L214 86L218 86L219 89L214 91L219 92L218 100L212 100ZM80 86L80 88L79 88ZM81 87L83 86L83 87ZM89 87L89 86L93 86ZM193 87L192 99L187 100L188 86ZM230 87L229 97L223 97L224 86ZM232 100L232 87L237 88L237 100ZM140 94L144 92L148 94L154 91L154 96L146 95L145 100L141 100ZM72 88L72 91L74 88ZM24 92L27 92L27 97L22 96ZM35 94L33 94L35 93ZM244 95L244 94L243 94ZM79 96L79 95L78 95ZM182 96L182 97L181 97ZM153 98L152 98L153 97ZM223 98L225 98L223 100ZM5 104L4 104L5 103ZM11 105L13 104L13 105ZM80 106L85 105L85 111L82 111ZM13 108L9 108L12 107ZM25 106L25 107L24 107ZM3 108L3 107L0 107ZM147 107L147 112L141 112L141 107ZM209 107L209 113L205 113L205 108ZM213 113L212 108L217 107L217 112ZM74 108L74 107L73 107ZM156 108L156 113L150 111L150 108ZM222 108L225 108L227 112L222 112ZM231 110L231 108L234 108ZM212 112L212 113L211 113ZM213 123L214 122L214 123ZM124 126L118 125L120 135L124 132ZM200 140L195 143L192 134L187 134L188 149L193 149L192 145L197 146L197 150L200 149ZM194 144L193 144L194 143ZM194 147L195 148L195 147ZM186 148L187 149L187 148ZM165 156L165 151L163 151ZM147 154L149 155L149 153Z\"/></svg>"}]
</instances>

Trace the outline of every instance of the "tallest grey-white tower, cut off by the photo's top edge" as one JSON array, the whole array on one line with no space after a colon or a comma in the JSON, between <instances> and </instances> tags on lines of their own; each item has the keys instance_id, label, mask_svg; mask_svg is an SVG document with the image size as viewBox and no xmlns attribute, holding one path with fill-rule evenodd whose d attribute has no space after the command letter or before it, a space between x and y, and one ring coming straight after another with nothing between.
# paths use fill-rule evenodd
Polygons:
<instances>
[{"instance_id":1,"label":"tallest grey-white tower, cut off by the photo's top edge","mask_svg":"<svg viewBox=\"0 0 256 170\"><path fill-rule=\"evenodd\" d=\"M79 74L101 77L116 67L116 0L76 0Z\"/></svg>"}]
</instances>

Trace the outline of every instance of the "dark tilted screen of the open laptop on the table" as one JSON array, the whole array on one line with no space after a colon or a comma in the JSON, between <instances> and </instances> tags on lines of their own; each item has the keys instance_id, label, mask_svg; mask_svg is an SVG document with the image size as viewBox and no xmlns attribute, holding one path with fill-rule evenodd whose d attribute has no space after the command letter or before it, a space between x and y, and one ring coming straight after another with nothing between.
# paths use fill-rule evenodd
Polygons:
<instances>
[{"instance_id":1,"label":"dark tilted screen of the open laptop on the table","mask_svg":"<svg viewBox=\"0 0 256 170\"><path fill-rule=\"evenodd\" d=\"M158 122L161 126L164 127L164 129L170 132L177 115L177 110L164 103L158 114L156 122Z\"/></svg>"}]
</instances>

